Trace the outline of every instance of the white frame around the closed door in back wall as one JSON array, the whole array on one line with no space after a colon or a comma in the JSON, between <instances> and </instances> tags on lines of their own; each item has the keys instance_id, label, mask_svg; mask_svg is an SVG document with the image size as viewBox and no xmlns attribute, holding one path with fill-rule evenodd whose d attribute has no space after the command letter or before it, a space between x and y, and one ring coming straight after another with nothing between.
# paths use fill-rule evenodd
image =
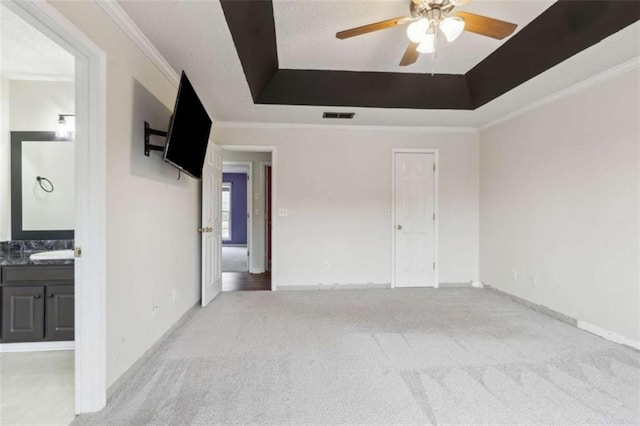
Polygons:
<instances>
[{"instance_id":1,"label":"white frame around the closed door in back wall","mask_svg":"<svg viewBox=\"0 0 640 426\"><path fill-rule=\"evenodd\" d=\"M391 150L391 288L396 287L396 154L433 154L433 164L435 165L434 172L434 211L436 214L436 220L434 221L433 230L433 261L436 263L434 271L434 285L433 288L440 286L438 280L438 271L440 269L440 246L438 239L438 229L440 224L440 210L439 210L439 187L440 187L440 152L437 148L393 148Z\"/></svg>"}]
</instances>

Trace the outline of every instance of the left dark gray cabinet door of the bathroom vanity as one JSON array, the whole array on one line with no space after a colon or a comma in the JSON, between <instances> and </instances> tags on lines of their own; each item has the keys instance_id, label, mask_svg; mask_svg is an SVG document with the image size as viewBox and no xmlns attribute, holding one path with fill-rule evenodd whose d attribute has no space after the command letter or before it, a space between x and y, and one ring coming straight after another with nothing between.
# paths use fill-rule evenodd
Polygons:
<instances>
[{"instance_id":1,"label":"left dark gray cabinet door of the bathroom vanity","mask_svg":"<svg viewBox=\"0 0 640 426\"><path fill-rule=\"evenodd\" d=\"M2 289L2 341L34 342L44 338L44 287Z\"/></svg>"}]
</instances>

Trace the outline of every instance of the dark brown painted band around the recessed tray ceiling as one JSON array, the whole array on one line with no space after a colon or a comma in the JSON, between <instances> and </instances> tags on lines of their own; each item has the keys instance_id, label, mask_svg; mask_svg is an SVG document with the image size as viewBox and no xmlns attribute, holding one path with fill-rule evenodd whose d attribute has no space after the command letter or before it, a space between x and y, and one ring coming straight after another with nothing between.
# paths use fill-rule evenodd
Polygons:
<instances>
[{"instance_id":1,"label":"dark brown painted band around the recessed tray ceiling","mask_svg":"<svg viewBox=\"0 0 640 426\"><path fill-rule=\"evenodd\" d=\"M640 19L635 0L559 0L464 75L293 70L279 68L271 0L220 3L267 105L473 110Z\"/></svg>"}]
</instances>

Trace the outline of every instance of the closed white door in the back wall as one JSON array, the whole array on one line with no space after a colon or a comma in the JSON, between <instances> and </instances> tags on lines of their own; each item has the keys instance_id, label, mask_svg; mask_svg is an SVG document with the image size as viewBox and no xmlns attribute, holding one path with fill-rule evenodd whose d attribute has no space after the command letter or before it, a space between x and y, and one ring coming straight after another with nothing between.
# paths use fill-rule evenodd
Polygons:
<instances>
[{"instance_id":1,"label":"closed white door in the back wall","mask_svg":"<svg viewBox=\"0 0 640 426\"><path fill-rule=\"evenodd\" d=\"M436 287L435 155L394 154L394 284Z\"/></svg>"}]
</instances>

